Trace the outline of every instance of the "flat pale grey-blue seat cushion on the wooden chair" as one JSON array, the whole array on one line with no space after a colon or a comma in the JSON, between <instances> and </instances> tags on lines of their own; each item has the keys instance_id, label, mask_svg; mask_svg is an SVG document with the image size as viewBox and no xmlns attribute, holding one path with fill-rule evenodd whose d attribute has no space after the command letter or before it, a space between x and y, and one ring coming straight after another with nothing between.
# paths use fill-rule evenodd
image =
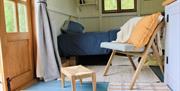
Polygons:
<instances>
[{"instance_id":1,"label":"flat pale grey-blue seat cushion on the wooden chair","mask_svg":"<svg viewBox=\"0 0 180 91\"><path fill-rule=\"evenodd\" d=\"M122 52L142 52L144 48L135 49L135 46L127 43L119 43L119 42L102 42L101 48L112 49L116 51Z\"/></svg>"}]
</instances>

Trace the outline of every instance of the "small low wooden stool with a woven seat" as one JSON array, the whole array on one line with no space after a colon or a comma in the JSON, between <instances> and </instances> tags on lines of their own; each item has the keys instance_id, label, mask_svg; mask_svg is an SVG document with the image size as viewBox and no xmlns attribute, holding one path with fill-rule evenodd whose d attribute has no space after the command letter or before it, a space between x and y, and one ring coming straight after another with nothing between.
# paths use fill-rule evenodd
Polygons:
<instances>
[{"instance_id":1,"label":"small low wooden stool with a woven seat","mask_svg":"<svg viewBox=\"0 0 180 91\"><path fill-rule=\"evenodd\" d=\"M92 77L93 91L96 91L96 73L82 65L61 68L61 84L63 88L65 76L71 79L72 91L76 91L76 79L79 79L82 85L83 78Z\"/></svg>"}]
</instances>

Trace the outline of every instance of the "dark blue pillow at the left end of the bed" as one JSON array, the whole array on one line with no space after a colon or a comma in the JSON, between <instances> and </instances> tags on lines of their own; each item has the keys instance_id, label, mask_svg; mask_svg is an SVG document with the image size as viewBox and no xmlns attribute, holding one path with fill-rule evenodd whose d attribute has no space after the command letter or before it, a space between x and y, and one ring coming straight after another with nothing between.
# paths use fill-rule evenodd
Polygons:
<instances>
[{"instance_id":1,"label":"dark blue pillow at the left end of the bed","mask_svg":"<svg viewBox=\"0 0 180 91\"><path fill-rule=\"evenodd\" d=\"M61 31L62 33L84 33L84 26L78 22L66 20Z\"/></svg>"}]
</instances>

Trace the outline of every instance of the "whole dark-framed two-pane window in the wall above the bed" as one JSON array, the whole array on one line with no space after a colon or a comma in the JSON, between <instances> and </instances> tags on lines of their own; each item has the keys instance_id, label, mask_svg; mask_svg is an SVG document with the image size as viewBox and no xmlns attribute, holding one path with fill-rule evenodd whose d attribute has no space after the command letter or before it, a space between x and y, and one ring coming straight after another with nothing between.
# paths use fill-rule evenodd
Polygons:
<instances>
[{"instance_id":1,"label":"whole dark-framed two-pane window in the wall above the bed","mask_svg":"<svg viewBox=\"0 0 180 91\"><path fill-rule=\"evenodd\" d=\"M103 13L135 12L137 0L102 0Z\"/></svg>"}]
</instances>

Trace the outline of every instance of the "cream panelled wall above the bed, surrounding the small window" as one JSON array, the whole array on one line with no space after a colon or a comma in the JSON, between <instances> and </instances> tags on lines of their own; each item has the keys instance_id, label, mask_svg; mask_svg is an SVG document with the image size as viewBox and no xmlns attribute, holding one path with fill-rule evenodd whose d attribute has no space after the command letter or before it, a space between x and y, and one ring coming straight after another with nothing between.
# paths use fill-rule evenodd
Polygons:
<instances>
[{"instance_id":1,"label":"cream panelled wall above the bed, surrounding the small window","mask_svg":"<svg viewBox=\"0 0 180 91\"><path fill-rule=\"evenodd\" d=\"M77 0L47 0L53 31L60 34L60 27L69 16L79 17L86 31L107 31L122 26L127 20L138 15L163 11L163 0L137 0L138 10L128 14L101 14L101 0L85 0L90 5L78 5ZM94 3L94 4L93 4Z\"/></svg>"}]
</instances>

